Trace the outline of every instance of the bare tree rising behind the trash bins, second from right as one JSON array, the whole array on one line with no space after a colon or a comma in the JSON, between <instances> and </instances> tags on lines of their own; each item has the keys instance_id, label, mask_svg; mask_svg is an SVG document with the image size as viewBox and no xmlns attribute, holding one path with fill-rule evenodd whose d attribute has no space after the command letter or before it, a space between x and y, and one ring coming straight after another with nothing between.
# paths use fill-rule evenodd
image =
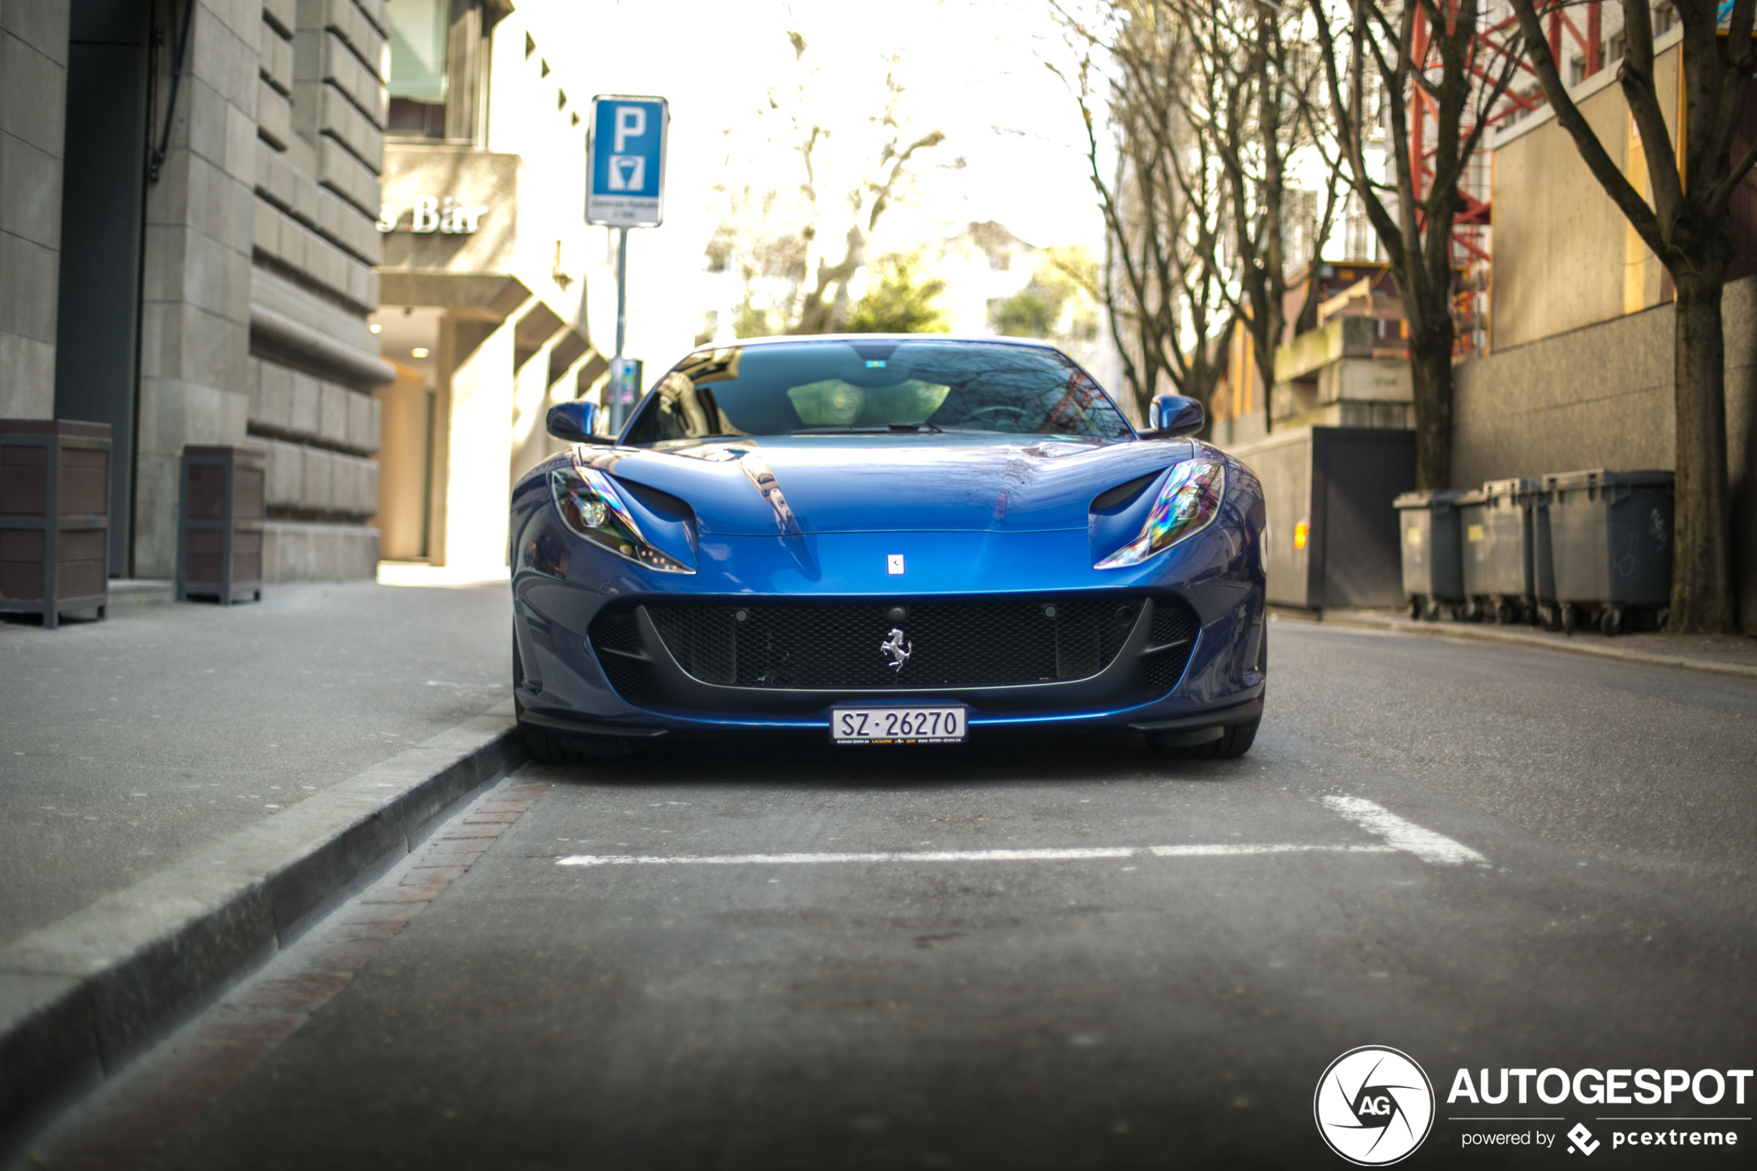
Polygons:
<instances>
[{"instance_id":1,"label":"bare tree rising behind the trash bins, second from right","mask_svg":"<svg viewBox=\"0 0 1757 1171\"><path fill-rule=\"evenodd\" d=\"M1307 11L1349 186L1390 258L1404 300L1414 381L1416 486L1446 488L1455 341L1451 232L1465 207L1458 184L1518 58L1508 53L1488 60L1478 51L1479 0L1307 0ZM1386 97L1390 183L1367 163L1372 88ZM1409 142L1409 102L1416 91L1427 95L1435 112L1427 191L1416 190L1421 160L1411 158Z\"/></svg>"}]
</instances>

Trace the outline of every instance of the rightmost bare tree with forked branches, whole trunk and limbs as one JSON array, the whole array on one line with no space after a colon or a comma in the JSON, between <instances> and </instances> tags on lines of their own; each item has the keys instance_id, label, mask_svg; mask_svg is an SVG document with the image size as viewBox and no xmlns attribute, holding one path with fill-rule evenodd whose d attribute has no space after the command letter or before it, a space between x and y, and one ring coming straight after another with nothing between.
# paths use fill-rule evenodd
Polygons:
<instances>
[{"instance_id":1,"label":"rightmost bare tree with forked branches, whole trunk and limbs","mask_svg":"<svg viewBox=\"0 0 1757 1171\"><path fill-rule=\"evenodd\" d=\"M1525 51L1557 123L1574 139L1587 169L1671 274L1678 291L1673 334L1673 427L1676 432L1676 542L1671 629L1734 629L1732 509L1727 492L1727 348L1720 290L1732 263L1732 191L1757 163L1757 144L1732 156L1757 49L1757 0L1674 0L1683 25L1683 142L1680 153L1662 107L1673 95L1653 88L1653 14L1648 0L1623 0L1625 56L1616 83L1646 146L1652 200L1629 181L1581 116L1557 70L1532 0L1513 0ZM1731 7L1725 39L1718 33ZM1544 5L1548 9L1548 5Z\"/></svg>"}]
</instances>

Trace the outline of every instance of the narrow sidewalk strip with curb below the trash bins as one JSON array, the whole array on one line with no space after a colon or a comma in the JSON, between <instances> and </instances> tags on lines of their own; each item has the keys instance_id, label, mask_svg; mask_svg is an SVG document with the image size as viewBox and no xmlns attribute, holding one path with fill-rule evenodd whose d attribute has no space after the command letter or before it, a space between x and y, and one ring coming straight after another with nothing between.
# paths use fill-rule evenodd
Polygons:
<instances>
[{"instance_id":1,"label":"narrow sidewalk strip with curb below the trash bins","mask_svg":"<svg viewBox=\"0 0 1757 1171\"><path fill-rule=\"evenodd\" d=\"M1550 632L1541 627L1495 625L1481 621L1416 621L1402 609L1328 609L1321 616L1305 611L1270 607L1290 621L1321 621L1327 627L1355 627L1388 634L1464 639L1471 643L1500 643L1502 646L1541 646L1571 655L1620 658L1652 667L1683 667L1710 671L1745 679L1757 679L1757 639L1743 634L1618 634L1606 637L1597 630L1574 634Z\"/></svg>"}]
</instances>

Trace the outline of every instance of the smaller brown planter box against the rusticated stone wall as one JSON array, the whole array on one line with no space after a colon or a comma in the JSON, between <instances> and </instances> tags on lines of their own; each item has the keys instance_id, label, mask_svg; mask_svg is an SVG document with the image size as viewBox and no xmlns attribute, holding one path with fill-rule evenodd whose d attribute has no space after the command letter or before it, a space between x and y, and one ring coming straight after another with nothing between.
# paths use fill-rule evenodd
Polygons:
<instances>
[{"instance_id":1,"label":"smaller brown planter box against the rusticated stone wall","mask_svg":"<svg viewBox=\"0 0 1757 1171\"><path fill-rule=\"evenodd\" d=\"M177 600L262 600L264 448L183 449Z\"/></svg>"}]
</instances>

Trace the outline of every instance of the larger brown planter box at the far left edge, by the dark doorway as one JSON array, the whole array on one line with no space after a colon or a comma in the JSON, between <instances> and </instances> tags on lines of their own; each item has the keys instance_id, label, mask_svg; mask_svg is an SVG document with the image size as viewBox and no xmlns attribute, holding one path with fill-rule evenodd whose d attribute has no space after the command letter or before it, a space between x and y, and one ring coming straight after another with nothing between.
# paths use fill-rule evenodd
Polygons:
<instances>
[{"instance_id":1,"label":"larger brown planter box at the far left edge, by the dark doorway","mask_svg":"<svg viewBox=\"0 0 1757 1171\"><path fill-rule=\"evenodd\" d=\"M0 420L0 611L109 611L107 423Z\"/></svg>"}]
</instances>

